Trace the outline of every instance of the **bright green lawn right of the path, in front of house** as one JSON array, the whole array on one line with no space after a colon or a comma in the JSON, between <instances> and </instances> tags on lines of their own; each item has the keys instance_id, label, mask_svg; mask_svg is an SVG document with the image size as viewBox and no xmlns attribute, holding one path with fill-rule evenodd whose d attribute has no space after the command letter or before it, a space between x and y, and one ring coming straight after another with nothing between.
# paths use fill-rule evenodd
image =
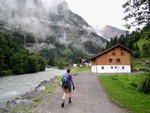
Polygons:
<instances>
[{"instance_id":1,"label":"bright green lawn right of the path, in front of house","mask_svg":"<svg viewBox=\"0 0 150 113\"><path fill-rule=\"evenodd\" d=\"M150 113L150 95L141 93L145 75L99 76L110 99L132 113Z\"/></svg>"}]
</instances>

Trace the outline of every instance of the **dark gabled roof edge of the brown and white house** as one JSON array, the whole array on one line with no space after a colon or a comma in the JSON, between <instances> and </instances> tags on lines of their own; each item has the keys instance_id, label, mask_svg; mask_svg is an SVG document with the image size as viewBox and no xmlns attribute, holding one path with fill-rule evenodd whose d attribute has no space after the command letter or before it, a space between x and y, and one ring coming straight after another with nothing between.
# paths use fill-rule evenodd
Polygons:
<instances>
[{"instance_id":1,"label":"dark gabled roof edge of the brown and white house","mask_svg":"<svg viewBox=\"0 0 150 113\"><path fill-rule=\"evenodd\" d=\"M122 47L122 48L126 49L127 51L131 52L131 50L130 50L129 48L127 48L127 47L125 47L125 46L123 46L123 45L121 45L121 44L117 44L117 45L115 45L115 46L113 46L113 47L111 47L111 48L109 48L109 49L103 51L102 53L96 55L95 57L93 57L93 58L91 58L91 59L93 60L93 59L95 59L95 58L97 58L97 57L99 57L99 56L101 56L101 55L103 55L103 54L109 52L110 50L117 48L117 47Z\"/></svg>"}]
</instances>

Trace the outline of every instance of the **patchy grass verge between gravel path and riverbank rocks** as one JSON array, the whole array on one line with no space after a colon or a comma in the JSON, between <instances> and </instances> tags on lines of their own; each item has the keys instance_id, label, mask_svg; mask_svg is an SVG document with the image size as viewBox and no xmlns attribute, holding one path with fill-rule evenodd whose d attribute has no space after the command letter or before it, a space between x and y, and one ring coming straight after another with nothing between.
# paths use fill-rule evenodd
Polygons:
<instances>
[{"instance_id":1,"label":"patchy grass verge between gravel path and riverbank rocks","mask_svg":"<svg viewBox=\"0 0 150 113\"><path fill-rule=\"evenodd\" d=\"M61 83L62 76L57 77L58 83ZM39 107L41 104L49 102L51 93L55 91L58 87L57 83L51 83L49 86L46 87L44 91L36 93L34 98L31 98L32 102L34 103L31 106L26 105L9 105L6 106L6 113L34 113L36 108Z\"/></svg>"}]
</instances>

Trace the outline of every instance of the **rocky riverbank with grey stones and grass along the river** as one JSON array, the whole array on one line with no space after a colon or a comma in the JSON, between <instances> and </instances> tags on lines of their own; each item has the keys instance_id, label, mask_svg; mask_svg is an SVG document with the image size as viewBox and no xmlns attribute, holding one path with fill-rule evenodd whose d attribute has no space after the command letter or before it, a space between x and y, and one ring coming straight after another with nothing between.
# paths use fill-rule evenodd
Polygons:
<instances>
[{"instance_id":1,"label":"rocky riverbank with grey stones and grass along the river","mask_svg":"<svg viewBox=\"0 0 150 113\"><path fill-rule=\"evenodd\" d=\"M0 108L0 113L10 113L10 112L14 112L15 109L21 110L22 108L24 109L25 107L29 109L33 109L34 107L37 106L38 102L41 101L46 96L45 93L46 88L48 88L51 84L54 84L54 86L58 85L55 84L57 83L57 78L58 77L54 77L51 80L44 80L33 90L28 91L25 94L20 95L17 98L8 101L5 107ZM19 111L15 113L19 113Z\"/></svg>"}]
</instances>

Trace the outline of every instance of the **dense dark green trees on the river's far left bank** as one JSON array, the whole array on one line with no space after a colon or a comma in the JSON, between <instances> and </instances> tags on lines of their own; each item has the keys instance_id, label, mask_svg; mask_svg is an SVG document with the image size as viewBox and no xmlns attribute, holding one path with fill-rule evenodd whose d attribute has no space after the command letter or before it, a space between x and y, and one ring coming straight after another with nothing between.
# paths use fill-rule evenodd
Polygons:
<instances>
[{"instance_id":1,"label":"dense dark green trees on the river's far left bank","mask_svg":"<svg viewBox=\"0 0 150 113\"><path fill-rule=\"evenodd\" d=\"M30 54L16 44L9 34L0 35L0 76L33 73L45 70L41 55Z\"/></svg>"}]
</instances>

